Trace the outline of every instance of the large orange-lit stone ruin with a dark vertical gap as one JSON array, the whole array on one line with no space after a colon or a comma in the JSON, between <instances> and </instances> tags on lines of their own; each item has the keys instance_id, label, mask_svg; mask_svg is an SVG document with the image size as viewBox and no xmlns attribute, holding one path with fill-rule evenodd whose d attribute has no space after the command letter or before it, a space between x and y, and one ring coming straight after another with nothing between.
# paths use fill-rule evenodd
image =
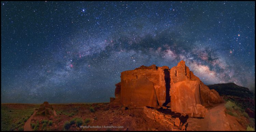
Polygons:
<instances>
[{"instance_id":1,"label":"large orange-lit stone ruin with a dark vertical gap","mask_svg":"<svg viewBox=\"0 0 256 132\"><path fill-rule=\"evenodd\" d=\"M204 117L205 107L221 102L218 92L203 84L183 60L171 69L142 65L122 72L115 98L110 98L112 107L171 109L191 117Z\"/></svg>"}]
</instances>

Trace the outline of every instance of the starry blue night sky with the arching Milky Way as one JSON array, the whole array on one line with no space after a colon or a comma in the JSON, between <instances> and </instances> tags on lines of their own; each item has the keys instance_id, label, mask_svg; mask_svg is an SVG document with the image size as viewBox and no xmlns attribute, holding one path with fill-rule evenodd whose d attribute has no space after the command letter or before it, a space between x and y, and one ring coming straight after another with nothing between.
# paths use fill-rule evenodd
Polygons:
<instances>
[{"instance_id":1,"label":"starry blue night sky with the arching Milky Way","mask_svg":"<svg viewBox=\"0 0 256 132\"><path fill-rule=\"evenodd\" d=\"M1 2L1 103L109 102L121 72L181 60L255 90L255 2Z\"/></svg>"}]
</instances>

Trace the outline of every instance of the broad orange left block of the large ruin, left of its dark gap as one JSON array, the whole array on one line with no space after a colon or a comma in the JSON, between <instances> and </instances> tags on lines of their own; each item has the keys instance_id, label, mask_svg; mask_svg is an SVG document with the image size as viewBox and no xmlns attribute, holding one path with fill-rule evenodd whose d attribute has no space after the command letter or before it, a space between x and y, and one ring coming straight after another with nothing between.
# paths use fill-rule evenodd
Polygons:
<instances>
[{"instance_id":1,"label":"broad orange left block of the large ruin, left of its dark gap","mask_svg":"<svg viewBox=\"0 0 256 132\"><path fill-rule=\"evenodd\" d=\"M166 101L165 69L169 68L142 65L122 72L120 102L137 108L162 106Z\"/></svg>"}]
</instances>

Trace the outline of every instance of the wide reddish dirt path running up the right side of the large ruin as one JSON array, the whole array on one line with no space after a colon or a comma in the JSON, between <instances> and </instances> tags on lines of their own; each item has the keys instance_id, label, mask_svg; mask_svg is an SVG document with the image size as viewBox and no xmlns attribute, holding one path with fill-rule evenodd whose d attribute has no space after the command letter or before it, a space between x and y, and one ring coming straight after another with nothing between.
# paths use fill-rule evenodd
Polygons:
<instances>
[{"instance_id":1,"label":"wide reddish dirt path running up the right side of the large ruin","mask_svg":"<svg viewBox=\"0 0 256 132\"><path fill-rule=\"evenodd\" d=\"M189 118L187 130L193 131L231 131L225 115L224 103L208 110L203 119Z\"/></svg>"}]
</instances>

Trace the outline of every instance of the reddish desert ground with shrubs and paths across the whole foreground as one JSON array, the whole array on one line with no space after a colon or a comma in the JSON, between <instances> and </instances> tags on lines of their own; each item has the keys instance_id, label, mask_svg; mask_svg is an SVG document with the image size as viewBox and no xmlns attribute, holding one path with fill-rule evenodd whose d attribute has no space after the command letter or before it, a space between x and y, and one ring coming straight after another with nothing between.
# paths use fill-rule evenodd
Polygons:
<instances>
[{"instance_id":1,"label":"reddish desert ground with shrubs and paths across the whole foreground","mask_svg":"<svg viewBox=\"0 0 256 132\"><path fill-rule=\"evenodd\" d=\"M230 107L227 100L209 107L204 118L189 117L162 108L111 107L110 103L50 105L53 114L36 115L39 104L1 104L1 130L174 131L178 129L172 129L170 122L175 122L175 118L185 124L187 131L244 131L248 126L255 127L254 118L248 117L243 109L232 106L232 103ZM146 113L145 109L153 114Z\"/></svg>"}]
</instances>

